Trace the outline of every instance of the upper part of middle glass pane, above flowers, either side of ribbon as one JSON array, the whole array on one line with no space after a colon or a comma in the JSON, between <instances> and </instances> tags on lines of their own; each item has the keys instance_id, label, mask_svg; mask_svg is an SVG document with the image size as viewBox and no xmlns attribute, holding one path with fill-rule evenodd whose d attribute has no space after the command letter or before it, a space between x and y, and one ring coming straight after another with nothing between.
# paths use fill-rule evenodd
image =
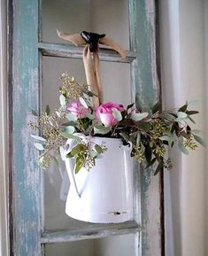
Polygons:
<instances>
[{"instance_id":1,"label":"upper part of middle glass pane, above flowers, either side of ribbon","mask_svg":"<svg viewBox=\"0 0 208 256\"><path fill-rule=\"evenodd\" d=\"M62 73L68 72L77 81L85 81L83 62L75 58L42 58L42 106L51 105L55 109L59 105L58 88ZM131 103L130 65L100 61L100 77L104 90L104 102L115 101L127 106Z\"/></svg>"}]
</instances>

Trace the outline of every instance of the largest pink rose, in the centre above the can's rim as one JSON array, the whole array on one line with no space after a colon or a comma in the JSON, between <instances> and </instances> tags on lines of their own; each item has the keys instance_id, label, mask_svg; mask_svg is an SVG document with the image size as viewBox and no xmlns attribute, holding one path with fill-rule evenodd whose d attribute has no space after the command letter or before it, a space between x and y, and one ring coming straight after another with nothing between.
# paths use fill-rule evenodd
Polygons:
<instances>
[{"instance_id":1,"label":"largest pink rose, in the centre above the can's rim","mask_svg":"<svg viewBox=\"0 0 208 256\"><path fill-rule=\"evenodd\" d=\"M118 123L118 120L112 114L113 109L117 109L119 112L124 111L122 105L114 102L104 103L96 109L96 117L101 120L105 127L114 126Z\"/></svg>"}]
</instances>

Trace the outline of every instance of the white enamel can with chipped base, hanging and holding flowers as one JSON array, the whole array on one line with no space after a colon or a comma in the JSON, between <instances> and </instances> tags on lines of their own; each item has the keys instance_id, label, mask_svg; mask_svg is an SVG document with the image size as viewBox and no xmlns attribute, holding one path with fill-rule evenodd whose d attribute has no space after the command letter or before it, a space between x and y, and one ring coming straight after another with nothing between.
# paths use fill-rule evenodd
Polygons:
<instances>
[{"instance_id":1,"label":"white enamel can with chipped base, hanging and holding flowers","mask_svg":"<svg viewBox=\"0 0 208 256\"><path fill-rule=\"evenodd\" d=\"M77 135L76 135L77 136ZM81 139L85 136L79 134ZM131 145L123 145L117 138L91 137L91 142L106 146L89 171L84 167L75 174L74 159L65 158L70 180L65 213L80 221L117 223L133 220L133 165ZM66 142L65 154L72 149Z\"/></svg>"}]
</instances>

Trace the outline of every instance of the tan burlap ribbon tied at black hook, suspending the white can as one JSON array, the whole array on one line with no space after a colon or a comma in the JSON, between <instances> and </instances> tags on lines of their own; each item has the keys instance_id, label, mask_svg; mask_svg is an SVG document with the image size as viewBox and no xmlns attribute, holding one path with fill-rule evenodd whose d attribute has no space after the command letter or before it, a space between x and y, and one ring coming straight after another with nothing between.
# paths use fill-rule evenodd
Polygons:
<instances>
[{"instance_id":1,"label":"tan burlap ribbon tied at black hook, suspending the white can","mask_svg":"<svg viewBox=\"0 0 208 256\"><path fill-rule=\"evenodd\" d=\"M101 35L97 42L97 47L92 51L90 43L87 43L80 34L69 35L65 32L57 30L58 36L62 39L72 42L76 46L85 46L83 50L83 62L86 73L89 90L95 93L98 97L93 97L93 104L97 107L103 102L103 89L101 86L99 75L99 43L104 45L104 48L116 50L121 58L126 58L126 50L114 43L112 39ZM82 32L83 33L83 32ZM88 32L87 32L88 33Z\"/></svg>"}]
</instances>

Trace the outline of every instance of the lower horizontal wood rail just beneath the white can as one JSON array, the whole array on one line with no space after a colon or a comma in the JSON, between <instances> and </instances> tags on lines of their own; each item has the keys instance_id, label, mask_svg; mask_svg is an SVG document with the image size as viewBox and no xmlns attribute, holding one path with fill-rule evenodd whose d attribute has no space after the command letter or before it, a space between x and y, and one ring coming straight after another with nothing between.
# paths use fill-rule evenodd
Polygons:
<instances>
[{"instance_id":1,"label":"lower horizontal wood rail just beneath the white can","mask_svg":"<svg viewBox=\"0 0 208 256\"><path fill-rule=\"evenodd\" d=\"M72 230L47 230L42 234L41 243L64 243L85 239L135 234L140 230L141 228L135 221L127 221L119 224L94 224L84 228Z\"/></svg>"}]
</instances>

